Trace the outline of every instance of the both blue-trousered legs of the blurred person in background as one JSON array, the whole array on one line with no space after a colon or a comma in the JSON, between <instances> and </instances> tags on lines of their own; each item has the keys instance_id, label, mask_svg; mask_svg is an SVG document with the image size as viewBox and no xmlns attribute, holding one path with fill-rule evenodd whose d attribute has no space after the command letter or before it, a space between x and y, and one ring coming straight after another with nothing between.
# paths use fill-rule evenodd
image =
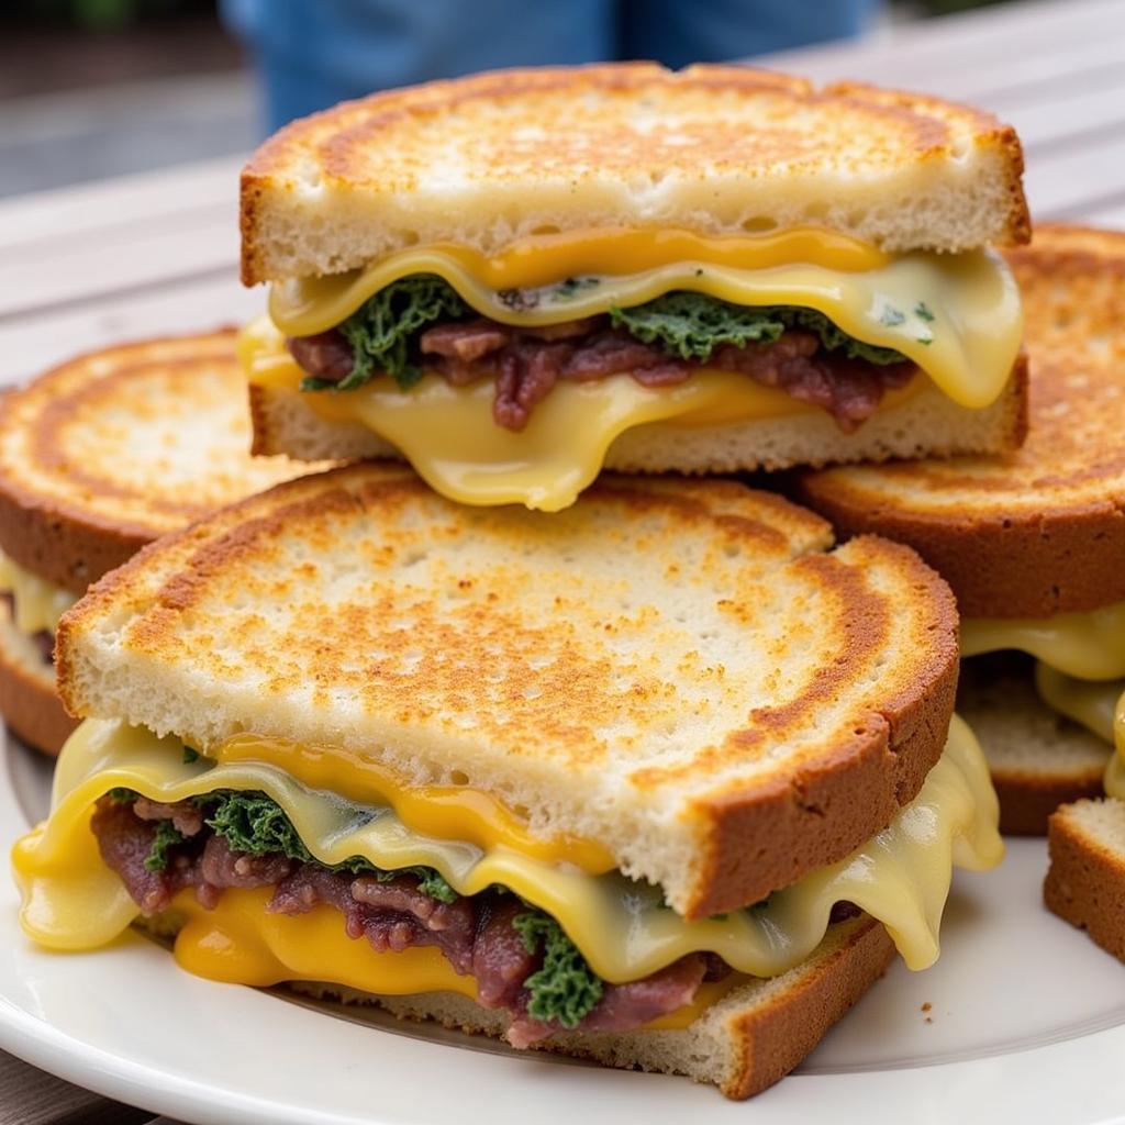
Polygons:
<instances>
[{"instance_id":1,"label":"both blue-trousered legs of the blurred person in background","mask_svg":"<svg viewBox=\"0 0 1125 1125\"><path fill-rule=\"evenodd\" d=\"M856 35L881 0L220 0L269 132L374 90L497 66L717 62Z\"/></svg>"}]
</instances>

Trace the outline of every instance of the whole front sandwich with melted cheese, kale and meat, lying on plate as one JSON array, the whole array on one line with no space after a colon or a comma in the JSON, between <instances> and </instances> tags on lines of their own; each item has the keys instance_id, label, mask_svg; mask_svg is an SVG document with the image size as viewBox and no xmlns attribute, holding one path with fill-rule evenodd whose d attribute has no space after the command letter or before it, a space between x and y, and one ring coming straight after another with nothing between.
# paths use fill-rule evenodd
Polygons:
<instances>
[{"instance_id":1,"label":"whole front sandwich with melted cheese, kale and meat, lying on plate","mask_svg":"<svg viewBox=\"0 0 1125 1125\"><path fill-rule=\"evenodd\" d=\"M57 651L91 718L14 855L36 942L140 920L215 980L731 1097L896 947L928 965L953 865L1001 853L946 585L732 482L548 516L304 477L108 575Z\"/></svg>"}]
</instances>

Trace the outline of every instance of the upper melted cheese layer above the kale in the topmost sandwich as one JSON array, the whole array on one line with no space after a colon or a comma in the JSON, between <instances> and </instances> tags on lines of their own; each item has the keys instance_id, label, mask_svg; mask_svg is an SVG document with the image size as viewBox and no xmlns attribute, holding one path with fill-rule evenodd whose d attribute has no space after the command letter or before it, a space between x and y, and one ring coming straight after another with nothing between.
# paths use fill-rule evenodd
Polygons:
<instances>
[{"instance_id":1,"label":"upper melted cheese layer above the kale in the topmost sandwich","mask_svg":"<svg viewBox=\"0 0 1125 1125\"><path fill-rule=\"evenodd\" d=\"M735 240L592 231L529 238L492 260L448 244L413 248L364 270L274 286L270 316L288 336L315 335L413 273L443 278L478 313L513 325L593 316L675 289L735 305L814 308L848 335L902 352L946 395L978 410L1004 389L1023 334L1018 289L992 251L889 258L810 230ZM560 294L558 282L576 276L586 284ZM505 300L513 288L533 290L532 299Z\"/></svg>"}]
</instances>

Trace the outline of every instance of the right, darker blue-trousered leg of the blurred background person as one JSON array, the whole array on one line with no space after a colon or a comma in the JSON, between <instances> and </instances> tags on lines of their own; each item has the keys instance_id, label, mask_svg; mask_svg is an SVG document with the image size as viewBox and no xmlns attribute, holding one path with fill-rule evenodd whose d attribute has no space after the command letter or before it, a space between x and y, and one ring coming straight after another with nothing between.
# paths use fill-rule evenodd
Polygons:
<instances>
[{"instance_id":1,"label":"right, darker blue-trousered leg of the blurred background person","mask_svg":"<svg viewBox=\"0 0 1125 1125\"><path fill-rule=\"evenodd\" d=\"M622 58L722 62L858 35L881 0L621 0Z\"/></svg>"}]
</instances>

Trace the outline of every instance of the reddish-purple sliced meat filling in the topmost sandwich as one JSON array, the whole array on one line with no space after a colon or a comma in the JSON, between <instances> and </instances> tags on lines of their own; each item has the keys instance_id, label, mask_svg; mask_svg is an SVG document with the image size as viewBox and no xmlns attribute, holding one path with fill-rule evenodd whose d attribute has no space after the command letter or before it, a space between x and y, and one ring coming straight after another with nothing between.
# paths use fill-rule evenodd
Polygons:
<instances>
[{"instance_id":1,"label":"reddish-purple sliced meat filling in the topmost sandwich","mask_svg":"<svg viewBox=\"0 0 1125 1125\"><path fill-rule=\"evenodd\" d=\"M352 369L351 344L340 332L294 338L288 346L303 370L327 382L340 382ZM456 387L495 380L493 418L514 431L528 424L536 406L560 380L630 375L645 387L668 387L709 367L739 372L818 406L852 433L871 417L888 390L904 386L918 371L911 362L879 364L826 351L814 333L800 330L771 343L723 344L705 362L685 360L611 327L605 316L536 328L514 328L484 317L454 321L424 331L417 349L422 370Z\"/></svg>"}]
</instances>

